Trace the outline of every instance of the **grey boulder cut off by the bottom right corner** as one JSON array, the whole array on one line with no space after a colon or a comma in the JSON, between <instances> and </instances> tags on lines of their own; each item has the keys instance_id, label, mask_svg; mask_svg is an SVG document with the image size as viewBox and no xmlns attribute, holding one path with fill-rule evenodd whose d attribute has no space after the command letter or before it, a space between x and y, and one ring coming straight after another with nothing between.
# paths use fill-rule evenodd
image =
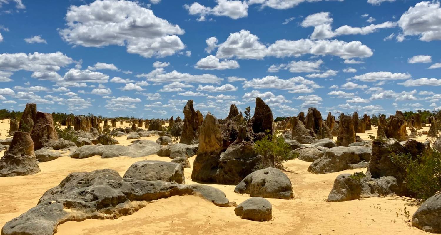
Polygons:
<instances>
[{"instance_id":1,"label":"grey boulder cut off by the bottom right corner","mask_svg":"<svg viewBox=\"0 0 441 235\"><path fill-rule=\"evenodd\" d=\"M435 194L416 210L412 226L425 232L441 233L441 194Z\"/></svg>"}]
</instances>

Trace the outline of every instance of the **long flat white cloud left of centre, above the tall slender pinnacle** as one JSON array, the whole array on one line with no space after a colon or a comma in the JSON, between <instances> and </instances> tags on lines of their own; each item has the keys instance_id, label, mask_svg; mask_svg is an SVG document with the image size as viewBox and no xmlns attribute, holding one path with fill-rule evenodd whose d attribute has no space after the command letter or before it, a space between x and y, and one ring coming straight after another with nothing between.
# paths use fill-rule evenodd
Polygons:
<instances>
[{"instance_id":1,"label":"long flat white cloud left of centre, above the tall slender pinnacle","mask_svg":"<svg viewBox=\"0 0 441 235\"><path fill-rule=\"evenodd\" d=\"M146 78L150 82L198 82L198 83L221 83L222 78L218 78L216 75L202 74L191 75L188 73L179 73L178 71L172 71L165 73L163 68L157 68L148 74L136 75L136 77Z\"/></svg>"}]
</instances>

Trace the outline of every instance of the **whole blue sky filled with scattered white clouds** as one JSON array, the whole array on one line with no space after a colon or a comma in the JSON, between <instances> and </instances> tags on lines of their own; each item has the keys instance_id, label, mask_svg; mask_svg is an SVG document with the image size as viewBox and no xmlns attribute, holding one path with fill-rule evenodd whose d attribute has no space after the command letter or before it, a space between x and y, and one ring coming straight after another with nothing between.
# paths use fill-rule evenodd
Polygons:
<instances>
[{"instance_id":1,"label":"whole blue sky filled with scattered white clouds","mask_svg":"<svg viewBox=\"0 0 441 235\"><path fill-rule=\"evenodd\" d=\"M0 108L440 110L440 40L437 0L0 0Z\"/></svg>"}]
</instances>

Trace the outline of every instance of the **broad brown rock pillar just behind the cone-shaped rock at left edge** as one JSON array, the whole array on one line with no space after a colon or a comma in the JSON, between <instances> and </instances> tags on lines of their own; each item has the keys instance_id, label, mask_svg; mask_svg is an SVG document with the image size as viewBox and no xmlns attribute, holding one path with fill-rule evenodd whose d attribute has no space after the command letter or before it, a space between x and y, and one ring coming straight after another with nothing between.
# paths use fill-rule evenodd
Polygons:
<instances>
[{"instance_id":1,"label":"broad brown rock pillar just behind the cone-shaped rock at left edge","mask_svg":"<svg viewBox=\"0 0 441 235\"><path fill-rule=\"evenodd\" d=\"M30 132L30 137L34 141L34 150L49 146L52 142L58 140L52 114L47 112L37 112L34 127Z\"/></svg>"}]
</instances>

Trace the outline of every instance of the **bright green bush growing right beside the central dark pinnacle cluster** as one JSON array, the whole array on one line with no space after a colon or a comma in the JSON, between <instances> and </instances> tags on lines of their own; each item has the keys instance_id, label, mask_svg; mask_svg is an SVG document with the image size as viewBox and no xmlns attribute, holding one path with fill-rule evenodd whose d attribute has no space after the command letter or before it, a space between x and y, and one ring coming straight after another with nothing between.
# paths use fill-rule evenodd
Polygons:
<instances>
[{"instance_id":1,"label":"bright green bush growing right beside the central dark pinnacle cluster","mask_svg":"<svg viewBox=\"0 0 441 235\"><path fill-rule=\"evenodd\" d=\"M288 160L299 157L299 154L293 153L291 146L288 145L284 138L277 134L268 134L266 137L254 143L254 150L263 157L262 168L273 167L282 171L288 171L284 167L284 163Z\"/></svg>"}]
</instances>

